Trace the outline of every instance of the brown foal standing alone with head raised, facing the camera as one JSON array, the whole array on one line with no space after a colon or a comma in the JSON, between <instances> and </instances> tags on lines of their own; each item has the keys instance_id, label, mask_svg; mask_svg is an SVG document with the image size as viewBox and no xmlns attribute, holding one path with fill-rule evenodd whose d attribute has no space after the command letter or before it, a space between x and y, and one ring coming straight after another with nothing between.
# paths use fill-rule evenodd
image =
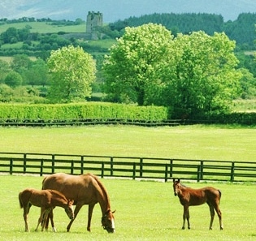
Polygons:
<instances>
[{"instance_id":1,"label":"brown foal standing alone with head raised, facing the camera","mask_svg":"<svg viewBox=\"0 0 256 241\"><path fill-rule=\"evenodd\" d=\"M184 207L183 213L183 226L185 228L185 220L188 221L188 228L190 229L189 223L189 206L196 206L201 204L208 204L210 208L210 230L212 229L212 223L215 217L215 211L219 217L219 227L223 230L221 212L219 210L219 201L221 192L214 187L202 187L200 189L193 189L185 187L180 183L180 179L173 179L173 191L175 196L179 196L180 204Z\"/></svg>"}]
</instances>

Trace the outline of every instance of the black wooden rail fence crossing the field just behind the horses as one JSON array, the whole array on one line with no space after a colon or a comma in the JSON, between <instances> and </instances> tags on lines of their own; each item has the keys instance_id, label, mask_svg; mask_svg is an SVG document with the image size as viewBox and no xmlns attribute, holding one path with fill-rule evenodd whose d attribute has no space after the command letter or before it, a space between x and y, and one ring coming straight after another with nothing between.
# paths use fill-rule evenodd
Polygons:
<instances>
[{"instance_id":1,"label":"black wooden rail fence crossing the field just behind the horses","mask_svg":"<svg viewBox=\"0 0 256 241\"><path fill-rule=\"evenodd\" d=\"M256 162L46 153L0 153L0 174L85 174L128 179L256 181Z\"/></svg>"}]
</instances>

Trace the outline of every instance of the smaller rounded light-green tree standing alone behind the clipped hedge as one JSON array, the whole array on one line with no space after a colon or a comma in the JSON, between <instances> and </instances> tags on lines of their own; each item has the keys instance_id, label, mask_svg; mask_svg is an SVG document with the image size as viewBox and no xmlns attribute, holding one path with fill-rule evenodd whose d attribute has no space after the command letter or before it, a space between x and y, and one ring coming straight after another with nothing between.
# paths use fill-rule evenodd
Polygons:
<instances>
[{"instance_id":1,"label":"smaller rounded light-green tree standing alone behind the clipped hedge","mask_svg":"<svg viewBox=\"0 0 256 241\"><path fill-rule=\"evenodd\" d=\"M90 97L96 64L82 48L69 45L52 51L47 66L51 74L51 101L69 102Z\"/></svg>"}]
</instances>

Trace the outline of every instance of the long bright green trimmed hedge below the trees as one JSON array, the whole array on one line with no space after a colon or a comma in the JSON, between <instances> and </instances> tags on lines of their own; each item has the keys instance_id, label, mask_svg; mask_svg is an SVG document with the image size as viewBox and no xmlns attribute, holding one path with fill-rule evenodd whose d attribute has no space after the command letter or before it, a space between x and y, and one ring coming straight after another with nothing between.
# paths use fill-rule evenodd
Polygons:
<instances>
[{"instance_id":1,"label":"long bright green trimmed hedge below the trees","mask_svg":"<svg viewBox=\"0 0 256 241\"><path fill-rule=\"evenodd\" d=\"M163 106L137 106L105 102L83 104L0 104L1 119L70 120L116 118L134 121L167 120L167 108Z\"/></svg>"}]
</instances>

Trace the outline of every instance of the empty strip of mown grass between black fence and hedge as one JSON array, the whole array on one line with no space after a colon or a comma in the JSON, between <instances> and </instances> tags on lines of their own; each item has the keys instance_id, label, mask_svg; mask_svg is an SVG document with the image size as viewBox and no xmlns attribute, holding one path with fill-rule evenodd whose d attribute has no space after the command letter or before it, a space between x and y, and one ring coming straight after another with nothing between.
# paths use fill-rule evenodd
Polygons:
<instances>
[{"instance_id":1,"label":"empty strip of mown grass between black fence and hedge","mask_svg":"<svg viewBox=\"0 0 256 241\"><path fill-rule=\"evenodd\" d=\"M0 152L256 161L256 128L0 127Z\"/></svg>"}]
</instances>

